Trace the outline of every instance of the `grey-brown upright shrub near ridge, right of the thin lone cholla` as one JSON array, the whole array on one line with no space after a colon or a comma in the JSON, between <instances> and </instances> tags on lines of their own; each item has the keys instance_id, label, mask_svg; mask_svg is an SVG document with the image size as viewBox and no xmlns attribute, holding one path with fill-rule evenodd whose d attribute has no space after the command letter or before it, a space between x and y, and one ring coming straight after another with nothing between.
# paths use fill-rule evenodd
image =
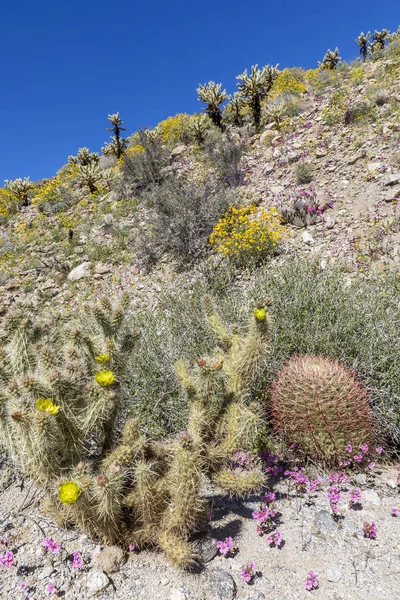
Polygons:
<instances>
[{"instance_id":1,"label":"grey-brown upright shrub near ridge, right of the thin lone cholla","mask_svg":"<svg viewBox=\"0 0 400 600\"><path fill-rule=\"evenodd\" d=\"M169 158L169 151L162 146L159 137L146 135L144 131L138 132L137 142L126 153L121 166L121 195L124 196L124 192L127 192L134 196L150 185L161 183L165 177L163 169Z\"/></svg>"}]
</instances>

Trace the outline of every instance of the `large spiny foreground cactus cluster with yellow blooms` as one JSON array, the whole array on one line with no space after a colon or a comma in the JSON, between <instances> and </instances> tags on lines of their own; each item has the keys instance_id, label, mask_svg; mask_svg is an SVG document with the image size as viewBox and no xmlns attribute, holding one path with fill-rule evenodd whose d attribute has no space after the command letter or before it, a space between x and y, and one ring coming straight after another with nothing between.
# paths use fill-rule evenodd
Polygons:
<instances>
[{"instance_id":1,"label":"large spiny foreground cactus cluster with yellow blooms","mask_svg":"<svg viewBox=\"0 0 400 600\"><path fill-rule=\"evenodd\" d=\"M250 384L268 341L265 308L247 334L226 328L210 299L207 319L218 349L176 372L190 403L177 439L148 439L137 419L122 427L123 377L138 332L127 326L129 299L104 298L73 328L35 325L24 308L9 313L0 337L0 443L45 492L46 509L105 543L162 549L193 564L190 535L207 518L201 494L212 477L231 494L262 486L256 463L237 469L262 424L248 405ZM50 333L49 333L50 332Z\"/></svg>"}]
</instances>

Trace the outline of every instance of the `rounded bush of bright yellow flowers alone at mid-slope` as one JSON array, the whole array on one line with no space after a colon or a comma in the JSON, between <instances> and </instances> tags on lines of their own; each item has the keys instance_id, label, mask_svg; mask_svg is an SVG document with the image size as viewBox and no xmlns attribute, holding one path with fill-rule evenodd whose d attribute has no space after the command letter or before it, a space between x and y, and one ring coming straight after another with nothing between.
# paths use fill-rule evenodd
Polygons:
<instances>
[{"instance_id":1,"label":"rounded bush of bright yellow flowers alone at mid-slope","mask_svg":"<svg viewBox=\"0 0 400 600\"><path fill-rule=\"evenodd\" d=\"M276 208L231 206L215 225L209 242L223 256L245 263L270 255L284 232Z\"/></svg>"}]
</instances>

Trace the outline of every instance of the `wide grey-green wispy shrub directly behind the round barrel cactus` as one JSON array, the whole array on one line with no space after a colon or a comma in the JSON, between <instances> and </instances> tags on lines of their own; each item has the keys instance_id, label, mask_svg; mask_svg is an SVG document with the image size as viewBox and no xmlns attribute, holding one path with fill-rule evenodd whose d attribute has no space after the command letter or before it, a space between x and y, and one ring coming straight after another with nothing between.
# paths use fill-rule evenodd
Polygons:
<instances>
[{"instance_id":1,"label":"wide grey-green wispy shrub directly behind the round barrel cactus","mask_svg":"<svg viewBox=\"0 0 400 600\"><path fill-rule=\"evenodd\" d=\"M151 414L150 426L158 420L166 428L178 426L182 404L175 400L178 392L168 356L179 353L192 361L212 351L200 298L212 294L222 318L241 327L253 299L271 295L270 349L254 386L255 396L265 393L293 354L334 357L360 374L381 432L389 444L400 445L399 292L398 273L350 279L340 268L321 271L316 263L305 260L274 268L268 264L256 273L252 271L246 286L236 280L236 271L229 263L217 271L204 271L179 294L176 290L162 294L159 307L146 317L154 340L139 353L142 366L135 375L137 403ZM150 336L149 328L146 335ZM154 367L158 351L162 370ZM150 389L152 394L147 393ZM164 398L168 417L164 417Z\"/></svg>"}]
</instances>

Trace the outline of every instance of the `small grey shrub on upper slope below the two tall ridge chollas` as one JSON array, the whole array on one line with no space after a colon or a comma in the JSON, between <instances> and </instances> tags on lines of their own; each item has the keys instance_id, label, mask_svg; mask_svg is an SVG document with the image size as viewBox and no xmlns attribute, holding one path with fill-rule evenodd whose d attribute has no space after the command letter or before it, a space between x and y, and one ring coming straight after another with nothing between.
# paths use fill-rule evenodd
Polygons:
<instances>
[{"instance_id":1,"label":"small grey shrub on upper slope below the two tall ridge chollas","mask_svg":"<svg viewBox=\"0 0 400 600\"><path fill-rule=\"evenodd\" d=\"M233 137L229 133L222 134L205 144L212 167L221 180L230 187L243 183L245 172L240 163L244 149L244 140L238 136Z\"/></svg>"}]
</instances>

